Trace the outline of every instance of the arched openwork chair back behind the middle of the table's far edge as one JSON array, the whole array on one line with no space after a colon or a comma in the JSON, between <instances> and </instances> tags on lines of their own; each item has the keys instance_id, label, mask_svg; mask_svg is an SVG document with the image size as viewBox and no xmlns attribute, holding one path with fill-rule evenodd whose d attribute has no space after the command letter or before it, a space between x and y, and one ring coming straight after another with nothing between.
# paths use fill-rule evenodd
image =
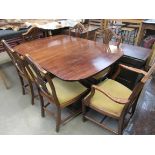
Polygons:
<instances>
[{"instance_id":1,"label":"arched openwork chair back behind the middle of the table's far edge","mask_svg":"<svg viewBox=\"0 0 155 155\"><path fill-rule=\"evenodd\" d=\"M77 23L74 27L69 28L69 36L74 35L81 38L83 34L86 34L86 38L88 38L88 30L81 23Z\"/></svg>"}]
</instances>

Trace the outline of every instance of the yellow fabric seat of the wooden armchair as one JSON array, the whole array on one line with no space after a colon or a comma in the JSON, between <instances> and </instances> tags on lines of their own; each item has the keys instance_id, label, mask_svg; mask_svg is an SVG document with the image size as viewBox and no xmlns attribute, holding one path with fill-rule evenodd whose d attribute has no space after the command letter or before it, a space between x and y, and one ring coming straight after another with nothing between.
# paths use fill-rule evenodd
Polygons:
<instances>
[{"instance_id":1,"label":"yellow fabric seat of the wooden armchair","mask_svg":"<svg viewBox=\"0 0 155 155\"><path fill-rule=\"evenodd\" d=\"M106 79L98 85L101 89L108 92L111 96L127 99L132 91L117 81ZM112 101L99 91L95 91L94 96L90 100L90 106L93 106L105 113L119 117L125 104L119 104Z\"/></svg>"}]
</instances>

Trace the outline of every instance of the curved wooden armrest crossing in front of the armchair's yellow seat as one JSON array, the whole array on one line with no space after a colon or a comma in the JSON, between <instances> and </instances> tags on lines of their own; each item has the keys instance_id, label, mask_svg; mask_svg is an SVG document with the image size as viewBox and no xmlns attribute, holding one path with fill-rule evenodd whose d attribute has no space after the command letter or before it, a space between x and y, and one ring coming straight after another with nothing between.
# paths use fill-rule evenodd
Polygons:
<instances>
[{"instance_id":1,"label":"curved wooden armrest crossing in front of the armchair's yellow seat","mask_svg":"<svg viewBox=\"0 0 155 155\"><path fill-rule=\"evenodd\" d=\"M129 99L123 99L123 98L117 98L117 97L113 97L111 96L108 92L106 92L105 90L101 89L100 87L93 85L92 86L95 90L100 91L101 93L103 93L104 95L106 95L108 98L110 98L112 101L117 102L119 104L128 104L130 102Z\"/></svg>"}]
</instances>

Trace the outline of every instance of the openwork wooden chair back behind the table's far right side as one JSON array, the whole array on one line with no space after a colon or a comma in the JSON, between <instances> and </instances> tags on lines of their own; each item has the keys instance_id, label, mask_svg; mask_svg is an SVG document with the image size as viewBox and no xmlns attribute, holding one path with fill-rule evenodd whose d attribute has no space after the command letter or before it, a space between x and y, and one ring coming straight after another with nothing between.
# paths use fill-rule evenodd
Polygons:
<instances>
[{"instance_id":1,"label":"openwork wooden chair back behind the table's far right side","mask_svg":"<svg viewBox=\"0 0 155 155\"><path fill-rule=\"evenodd\" d=\"M112 31L110 28L103 29L101 31L96 31L94 36L94 41L96 41L97 36L103 37L103 44L109 45L112 37L116 38L116 46L119 48L120 43L122 42L121 36L118 36L115 32Z\"/></svg>"}]
</instances>

